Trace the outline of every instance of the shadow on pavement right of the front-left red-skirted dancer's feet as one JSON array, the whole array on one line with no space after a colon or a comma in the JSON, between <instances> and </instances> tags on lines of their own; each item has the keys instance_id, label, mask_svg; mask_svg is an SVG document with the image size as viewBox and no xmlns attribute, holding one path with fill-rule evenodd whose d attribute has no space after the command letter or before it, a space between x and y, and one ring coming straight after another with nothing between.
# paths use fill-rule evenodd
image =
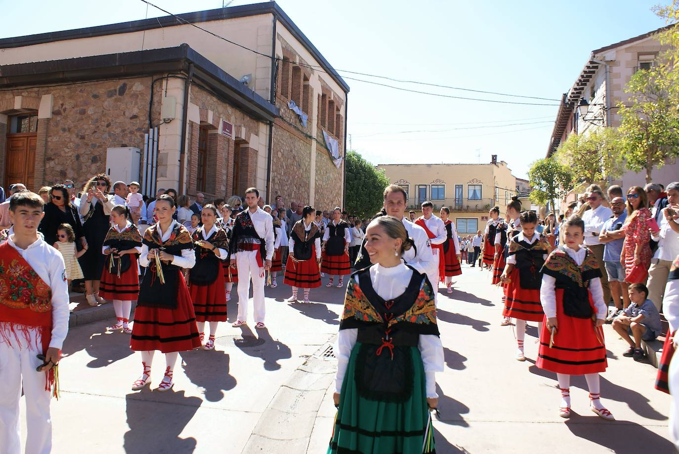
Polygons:
<instances>
[{"instance_id":1,"label":"shadow on pavement right of the front-left red-skirted dancer's feet","mask_svg":"<svg viewBox=\"0 0 679 454\"><path fill-rule=\"evenodd\" d=\"M203 349L179 352L184 373L191 383L202 387L205 398L219 402L224 391L236 387L236 378L229 373L229 355L217 349L205 352Z\"/></svg>"}]
</instances>

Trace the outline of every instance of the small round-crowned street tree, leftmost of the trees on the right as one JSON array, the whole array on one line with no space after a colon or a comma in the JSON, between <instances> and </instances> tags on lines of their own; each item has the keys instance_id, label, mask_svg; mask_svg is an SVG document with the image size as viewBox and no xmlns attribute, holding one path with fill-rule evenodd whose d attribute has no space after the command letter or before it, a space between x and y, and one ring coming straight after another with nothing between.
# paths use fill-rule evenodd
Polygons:
<instances>
[{"instance_id":1,"label":"small round-crowned street tree, leftmost of the trees on the right","mask_svg":"<svg viewBox=\"0 0 679 454\"><path fill-rule=\"evenodd\" d=\"M530 166L528 181L533 188L530 200L538 205L549 203L554 213L554 201L568 193L573 176L568 166L557 162L554 157L547 157L538 159Z\"/></svg>"}]
</instances>

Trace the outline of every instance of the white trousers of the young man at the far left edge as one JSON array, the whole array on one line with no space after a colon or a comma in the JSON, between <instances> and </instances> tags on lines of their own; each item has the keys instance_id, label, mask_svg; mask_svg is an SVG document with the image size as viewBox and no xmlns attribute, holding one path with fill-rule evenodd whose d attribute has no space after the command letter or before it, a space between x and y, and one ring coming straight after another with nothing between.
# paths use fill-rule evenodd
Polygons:
<instances>
[{"instance_id":1,"label":"white trousers of the young man at the far left edge","mask_svg":"<svg viewBox=\"0 0 679 454\"><path fill-rule=\"evenodd\" d=\"M19 398L23 386L26 397L26 454L43 454L52 450L50 392L45 391L45 373L35 368L35 335L30 345L12 337L12 345L0 341L0 454L20 454Z\"/></svg>"}]
</instances>

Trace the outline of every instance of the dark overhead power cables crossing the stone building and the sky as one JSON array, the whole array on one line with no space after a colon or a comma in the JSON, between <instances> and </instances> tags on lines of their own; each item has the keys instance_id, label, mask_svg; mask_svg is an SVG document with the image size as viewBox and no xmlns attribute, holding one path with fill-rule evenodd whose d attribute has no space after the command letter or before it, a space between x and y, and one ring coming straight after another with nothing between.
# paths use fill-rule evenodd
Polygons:
<instances>
[{"instance_id":1,"label":"dark overhead power cables crossing the stone building and the sky","mask_svg":"<svg viewBox=\"0 0 679 454\"><path fill-rule=\"evenodd\" d=\"M226 39L225 37L223 37L223 36L221 36L221 35L217 35L217 33L213 33L213 32L211 32L211 31L209 31L209 30L203 29L201 26L198 26L198 25L194 24L193 22L189 22L188 20L186 20L186 19L184 19L184 18L182 18L182 17L180 17L180 16L177 16L177 14L173 14L173 13L169 12L168 10L164 10L162 7L157 6L157 5L154 5L153 3L151 3L151 2L148 1L148 0L140 0L140 1L143 1L143 2L146 3L147 5L153 6L153 7L156 8L157 10L160 10L160 11L164 12L165 14L168 14L168 15L174 17L174 18L176 18L177 20L180 20L181 22L184 22L185 24L189 24L189 25L191 25L191 26L194 26L194 27L196 27L196 29L202 30L202 31L204 31L205 33L208 33L209 35L212 35L213 37L215 37L215 38L217 38L217 39L221 39L221 40L223 40L223 41L226 41L227 43L231 43L231 44L233 44L233 45L236 45L236 46L238 46L238 47L241 48L241 49L248 50L248 51L253 52L254 54L257 54L257 55L259 55L259 56L263 56L263 57L266 57L266 58L272 58L272 56L270 56L270 55L263 54L262 52L259 52L259 51L257 51L257 50L248 48L248 47L246 47L246 46L244 46L244 45L242 45L242 44L236 43L235 41L231 41L230 39ZM278 58L278 57L273 57L273 59L274 59L274 60L278 60L278 61L283 61L282 58ZM304 63L301 63L301 62L297 63L297 65L298 65L298 66L301 66L301 67L306 67L306 68L309 68L309 69L313 69L314 71L319 71L320 73L325 73L325 74L328 74L328 75L332 75L332 74L328 73L327 71L323 70L323 69L322 69L323 67L320 67L320 66L318 66L318 65L304 64ZM398 79L392 79L392 78L390 78L390 77L380 76L380 75L371 75L371 74L366 74L366 73L357 73L357 72L348 71L348 70L337 70L337 71L342 71L342 72L344 72L344 73L354 73L354 74L360 74L360 75L367 75L367 76L369 76L369 77L378 77L378 78L382 78L382 79L389 79L389 80L399 81ZM438 96L438 97L441 97L441 98L452 98L452 99L462 99L462 100L472 100L472 101L482 101L482 102L495 102L495 103L499 103L499 104L528 105L528 106L559 106L559 105L560 105L560 104L544 104L544 103L536 103L536 102L514 102L514 101L501 101L501 100L483 99L483 98L468 98L468 97L464 97L464 96L452 96L452 95L446 95L446 94L440 94L440 93L422 92L422 91L420 91L420 90L410 90L410 89L408 89L408 88L401 88L401 87L397 87L397 86L391 86L391 85L388 85L387 83L379 83L379 82L375 82L375 81L367 81L367 80L364 80L364 79L356 79L355 77L344 76L344 78L345 78L345 79L354 80L354 81L358 81L358 82L363 82L363 83L370 83L370 84L376 85L376 86L382 86L382 87L386 87L386 88L392 88L392 89L394 89L394 90L401 90L401 91L403 91L403 92L411 92L411 93L416 93L416 94L426 94L426 95L428 95L428 96ZM504 94L504 93L498 93L498 92L484 92L484 91L482 91L482 90L472 90L472 89L456 88L456 87L449 87L449 86L441 86L441 85L437 85L437 84L434 84L434 83L426 83L426 82L416 82L416 81L403 81L403 82L405 82L405 83L420 83L420 84L422 84L422 85L438 86L438 87L441 87L441 88L453 88L453 89L455 89L455 90L468 90L468 91L471 91L471 92L488 93L488 94L498 94L498 95L500 95L500 96L515 96L515 97L519 97L519 98L533 98L533 99L552 100L552 99L550 99L550 98L536 98L536 97L534 97L534 96L521 96L521 95Z\"/></svg>"}]
</instances>

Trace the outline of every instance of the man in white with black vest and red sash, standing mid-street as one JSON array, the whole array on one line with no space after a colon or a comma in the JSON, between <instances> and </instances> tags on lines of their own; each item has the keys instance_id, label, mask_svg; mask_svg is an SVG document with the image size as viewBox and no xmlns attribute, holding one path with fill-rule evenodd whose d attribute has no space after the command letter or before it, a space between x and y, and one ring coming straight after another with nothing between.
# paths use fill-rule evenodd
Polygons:
<instances>
[{"instance_id":1,"label":"man in white with black vest and red sash, standing mid-street","mask_svg":"<svg viewBox=\"0 0 679 454\"><path fill-rule=\"evenodd\" d=\"M233 326L242 326L248 319L250 281L253 283L255 328L264 325L264 275L271 268L274 257L274 223L271 215L259 208L259 190L249 187L245 191L247 210L238 213L232 233L230 265L238 267L238 319ZM265 253L261 250L264 242Z\"/></svg>"}]
</instances>

